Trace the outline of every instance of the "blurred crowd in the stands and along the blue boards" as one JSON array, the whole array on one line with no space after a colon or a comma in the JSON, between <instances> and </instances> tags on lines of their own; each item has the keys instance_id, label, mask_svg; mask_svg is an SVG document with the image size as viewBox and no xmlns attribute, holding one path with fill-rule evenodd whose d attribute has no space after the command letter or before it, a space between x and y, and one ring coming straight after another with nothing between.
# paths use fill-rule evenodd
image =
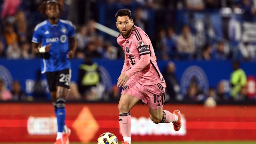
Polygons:
<instances>
[{"instance_id":1,"label":"blurred crowd in the stands and along the blue boards","mask_svg":"<svg viewBox=\"0 0 256 144\"><path fill-rule=\"evenodd\" d=\"M0 0L0 57L7 59L36 58L31 51L34 27L44 20L37 11L43 0ZM142 28L151 38L158 59L163 60L239 60L256 61L256 0L60 0L64 4L62 19L71 20L76 27L77 51L75 58L84 59L85 65L97 72L95 63L88 59L123 58L123 50L115 37L98 31L95 22L115 28L115 12L129 8L135 25ZM76 16L74 16L76 15ZM110 18L110 19L109 19ZM249 37L246 28L250 27ZM239 68L237 68L239 69ZM80 68L80 79L86 71ZM239 69L240 70L240 69ZM234 68L235 71L235 68ZM197 84L191 82L187 94L181 96L175 76L175 64L170 62L164 72L169 89L169 99L201 101L207 97L214 100L245 100L246 82L239 88L232 84L231 90L224 90L220 82L209 93L202 93ZM93 74L93 84L72 85L75 99L97 100L96 95L104 93L99 85L100 77ZM245 75L246 77L246 75ZM32 101L24 95L18 81L13 82L11 92L1 100ZM3 87L3 86L2 86ZM168 86L167 86L168 87ZM234 88L234 91L232 89ZM86 90L90 90L89 92ZM120 90L112 88L109 95L118 100ZM94 95L94 96L92 96ZM239 95L239 96L238 96ZM241 96L245 95L245 96ZM72 98L71 98L72 99Z\"/></svg>"}]
</instances>

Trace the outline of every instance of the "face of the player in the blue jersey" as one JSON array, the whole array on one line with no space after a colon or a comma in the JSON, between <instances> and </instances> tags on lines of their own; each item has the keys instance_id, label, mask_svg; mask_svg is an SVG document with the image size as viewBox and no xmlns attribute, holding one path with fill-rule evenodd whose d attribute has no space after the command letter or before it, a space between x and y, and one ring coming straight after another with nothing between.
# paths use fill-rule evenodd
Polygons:
<instances>
[{"instance_id":1,"label":"face of the player in the blue jersey","mask_svg":"<svg viewBox=\"0 0 256 144\"><path fill-rule=\"evenodd\" d=\"M46 5L46 15L50 19L56 19L59 17L59 7L55 3L50 3Z\"/></svg>"}]
</instances>

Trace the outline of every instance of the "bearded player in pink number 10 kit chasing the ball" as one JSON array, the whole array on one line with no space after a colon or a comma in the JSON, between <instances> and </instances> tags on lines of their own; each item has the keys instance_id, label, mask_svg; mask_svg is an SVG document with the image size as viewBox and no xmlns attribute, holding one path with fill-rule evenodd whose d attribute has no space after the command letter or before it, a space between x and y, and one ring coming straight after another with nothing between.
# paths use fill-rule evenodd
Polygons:
<instances>
[{"instance_id":1,"label":"bearded player in pink number 10 kit chasing the ball","mask_svg":"<svg viewBox=\"0 0 256 144\"><path fill-rule=\"evenodd\" d=\"M166 83L157 66L157 58L148 35L136 27L131 11L118 10L116 14L117 43L124 50L124 65L117 79L123 87L119 101L119 125L124 142L131 144L130 110L138 101L148 104L150 119L158 123L173 123L175 131L181 128L181 112L162 109L165 103Z\"/></svg>"}]
</instances>

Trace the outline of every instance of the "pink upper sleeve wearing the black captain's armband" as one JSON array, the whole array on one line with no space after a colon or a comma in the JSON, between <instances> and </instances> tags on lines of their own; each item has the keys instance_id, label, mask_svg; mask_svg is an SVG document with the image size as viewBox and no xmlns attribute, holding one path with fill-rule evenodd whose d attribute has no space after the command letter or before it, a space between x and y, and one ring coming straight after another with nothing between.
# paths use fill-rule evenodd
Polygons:
<instances>
[{"instance_id":1,"label":"pink upper sleeve wearing the black captain's armband","mask_svg":"<svg viewBox=\"0 0 256 144\"><path fill-rule=\"evenodd\" d=\"M141 37L141 40L138 41L136 44L136 47L139 51L139 56L144 54L150 54L150 41L146 33L143 31L139 34L139 37Z\"/></svg>"}]
</instances>

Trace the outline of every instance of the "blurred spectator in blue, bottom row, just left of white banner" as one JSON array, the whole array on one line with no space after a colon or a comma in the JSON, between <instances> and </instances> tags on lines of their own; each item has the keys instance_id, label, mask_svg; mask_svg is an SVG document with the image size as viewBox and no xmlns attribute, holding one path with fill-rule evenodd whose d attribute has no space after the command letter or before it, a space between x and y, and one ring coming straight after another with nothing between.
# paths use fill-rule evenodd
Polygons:
<instances>
[{"instance_id":1,"label":"blurred spectator in blue, bottom row, just left of white banner","mask_svg":"<svg viewBox=\"0 0 256 144\"><path fill-rule=\"evenodd\" d=\"M213 59L226 60L228 58L230 58L228 46L223 41L219 41L216 50L213 51Z\"/></svg>"}]
</instances>

